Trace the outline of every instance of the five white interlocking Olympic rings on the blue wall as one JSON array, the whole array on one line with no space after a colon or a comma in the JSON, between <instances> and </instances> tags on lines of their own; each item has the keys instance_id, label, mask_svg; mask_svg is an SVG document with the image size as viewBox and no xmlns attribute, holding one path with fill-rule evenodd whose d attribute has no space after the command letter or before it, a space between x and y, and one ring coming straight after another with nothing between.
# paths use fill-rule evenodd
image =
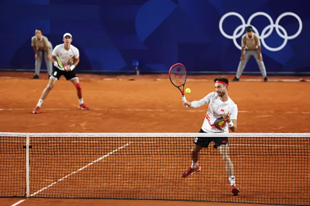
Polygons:
<instances>
[{"instance_id":1,"label":"five white interlocking Olympic rings on the blue wall","mask_svg":"<svg viewBox=\"0 0 310 206\"><path fill-rule=\"evenodd\" d=\"M231 16L231 15L239 17L241 22L242 22L242 24L240 26L238 26L236 29L234 29L232 36L226 34L225 31L223 30L223 21L225 20L225 18L227 18L228 16ZM259 16L259 15L263 15L263 16L267 17L268 20L270 21L270 25L266 26L263 29L261 35L259 34L258 30L253 25L251 25L251 21L253 20L253 18L255 18L256 16ZM299 23L299 28L298 28L297 32L294 35L292 35L292 36L288 36L287 31L282 26L279 25L280 20L284 16L288 16L288 15L295 17L297 19L298 23ZM279 50L283 49L286 46L288 40L296 38L301 33L302 21L301 21L301 18L298 15L296 15L295 13L293 13L293 12L285 12L285 13L279 15L279 17L276 20L276 23L274 23L270 15L268 15L268 14L266 14L264 12L256 12L256 13L252 14L248 18L248 22L246 23L246 21L245 21L245 19L243 18L242 15L240 15L240 14L238 14L236 12L229 12L229 13L226 13L225 15L223 15L221 17L221 19L219 20L219 24L218 24L218 27L219 27L219 30L220 30L221 34L224 37L226 37L227 39L232 39L233 40L233 44L238 49L240 49L240 50L241 50L241 46L237 43L237 38L239 38L239 37L241 37L243 35L243 33L244 33L244 31L245 31L247 26L252 26L252 28L255 31L255 33L260 37L260 39L262 41L262 45L267 50L275 52L275 51L279 51ZM281 38L284 39L283 43L279 47L275 47L275 48L268 46L265 43L265 40L264 40L265 38L270 36L270 34L272 33L274 28L276 28L277 34ZM239 30L240 30L240 32L238 33ZM267 30L268 30L268 32L267 32ZM283 32L283 34L280 32L280 30Z\"/></svg>"}]
</instances>

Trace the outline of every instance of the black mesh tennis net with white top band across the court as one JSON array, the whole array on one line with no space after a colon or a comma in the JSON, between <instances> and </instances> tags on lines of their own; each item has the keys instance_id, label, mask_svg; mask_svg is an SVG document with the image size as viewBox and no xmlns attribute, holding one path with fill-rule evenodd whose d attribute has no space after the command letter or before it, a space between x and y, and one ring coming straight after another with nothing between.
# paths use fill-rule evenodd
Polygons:
<instances>
[{"instance_id":1,"label":"black mesh tennis net with white top band across the court","mask_svg":"<svg viewBox=\"0 0 310 206\"><path fill-rule=\"evenodd\" d=\"M201 171L182 178L193 141L210 134L2 132L0 197L310 205L310 133L225 136L229 157L211 142L199 153Z\"/></svg>"}]
</instances>

